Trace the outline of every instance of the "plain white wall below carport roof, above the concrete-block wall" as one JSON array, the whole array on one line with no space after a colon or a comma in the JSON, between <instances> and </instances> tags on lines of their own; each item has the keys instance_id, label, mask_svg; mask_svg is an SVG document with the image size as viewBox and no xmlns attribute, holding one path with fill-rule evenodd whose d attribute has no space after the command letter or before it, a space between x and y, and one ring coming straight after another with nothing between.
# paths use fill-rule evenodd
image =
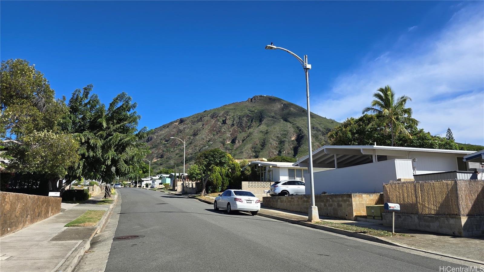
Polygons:
<instances>
[{"instance_id":1,"label":"plain white wall below carport roof, above the concrete-block wall","mask_svg":"<svg viewBox=\"0 0 484 272\"><path fill-rule=\"evenodd\" d=\"M308 180L309 174L305 175ZM380 193L383 182L413 179L411 160L397 159L314 173L314 192L328 194ZM311 188L306 186L306 195Z\"/></svg>"}]
</instances>

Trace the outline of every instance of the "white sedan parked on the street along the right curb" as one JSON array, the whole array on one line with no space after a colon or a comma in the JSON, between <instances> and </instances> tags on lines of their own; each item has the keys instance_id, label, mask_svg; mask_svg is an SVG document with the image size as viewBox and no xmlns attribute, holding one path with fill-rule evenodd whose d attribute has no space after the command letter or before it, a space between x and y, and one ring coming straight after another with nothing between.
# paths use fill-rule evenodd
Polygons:
<instances>
[{"instance_id":1,"label":"white sedan parked on the street along the right curb","mask_svg":"<svg viewBox=\"0 0 484 272\"><path fill-rule=\"evenodd\" d=\"M227 210L227 213L232 211L243 211L256 215L260 210L260 199L249 191L226 190L221 195L215 197L213 209L215 211L218 209Z\"/></svg>"}]
</instances>

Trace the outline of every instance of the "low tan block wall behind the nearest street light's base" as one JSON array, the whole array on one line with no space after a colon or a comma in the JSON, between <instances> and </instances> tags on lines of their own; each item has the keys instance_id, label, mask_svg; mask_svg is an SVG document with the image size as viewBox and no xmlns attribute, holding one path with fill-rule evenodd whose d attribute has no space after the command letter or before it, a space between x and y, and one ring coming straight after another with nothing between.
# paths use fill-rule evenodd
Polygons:
<instances>
[{"instance_id":1,"label":"low tan block wall behind the nearest street light's base","mask_svg":"<svg viewBox=\"0 0 484 272\"><path fill-rule=\"evenodd\" d=\"M311 196L271 196L263 198L265 207L307 213ZM316 195L318 213L322 216L354 220L366 215L366 206L383 204L382 194L331 194Z\"/></svg>"}]
</instances>

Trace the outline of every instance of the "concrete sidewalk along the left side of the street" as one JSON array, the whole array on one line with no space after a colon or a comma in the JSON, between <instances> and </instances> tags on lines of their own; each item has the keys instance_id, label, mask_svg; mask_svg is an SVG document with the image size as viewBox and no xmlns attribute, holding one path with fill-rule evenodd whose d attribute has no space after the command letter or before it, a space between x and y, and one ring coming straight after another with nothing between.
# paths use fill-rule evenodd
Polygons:
<instances>
[{"instance_id":1,"label":"concrete sidewalk along the left side of the street","mask_svg":"<svg viewBox=\"0 0 484 272\"><path fill-rule=\"evenodd\" d=\"M109 204L96 204L104 192L86 204L61 204L61 212L0 238L0 270L71 271L78 255L89 249L89 241L106 220L95 227L64 227L88 210L108 211ZM87 249L85 249L87 246ZM74 264L72 264L74 263Z\"/></svg>"}]
</instances>

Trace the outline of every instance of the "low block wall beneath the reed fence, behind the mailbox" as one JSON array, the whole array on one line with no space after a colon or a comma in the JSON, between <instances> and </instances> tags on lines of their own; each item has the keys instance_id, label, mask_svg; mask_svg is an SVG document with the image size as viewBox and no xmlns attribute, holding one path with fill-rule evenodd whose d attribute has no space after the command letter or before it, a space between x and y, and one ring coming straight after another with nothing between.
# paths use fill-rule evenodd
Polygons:
<instances>
[{"instance_id":1,"label":"low block wall beneath the reed fence, behind the mailbox","mask_svg":"<svg viewBox=\"0 0 484 272\"><path fill-rule=\"evenodd\" d=\"M392 226L392 213L383 213L383 225ZM484 216L427 215L395 212L395 227L456 236L484 234Z\"/></svg>"}]
</instances>

